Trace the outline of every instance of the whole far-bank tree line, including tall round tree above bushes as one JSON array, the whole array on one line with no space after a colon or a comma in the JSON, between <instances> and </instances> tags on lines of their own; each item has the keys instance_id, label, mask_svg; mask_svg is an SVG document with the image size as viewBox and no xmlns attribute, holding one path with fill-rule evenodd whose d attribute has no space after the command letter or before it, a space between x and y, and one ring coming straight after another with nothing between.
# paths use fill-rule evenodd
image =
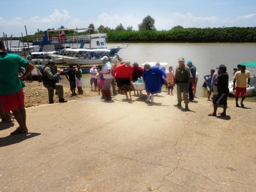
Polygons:
<instances>
[{"instance_id":1,"label":"whole far-bank tree line, including tall round tree above bushes","mask_svg":"<svg viewBox=\"0 0 256 192\"><path fill-rule=\"evenodd\" d=\"M91 23L85 32L79 32L79 35L88 35L96 33L107 33L107 42L191 42L191 43L213 43L213 42L256 42L256 27L219 27L219 28L183 28L174 26L170 30L156 30L154 18L146 16L142 23L138 25L138 30L133 26L126 29L119 23L115 29L100 25L95 28ZM52 28L53 29L53 28ZM58 29L67 29L61 26ZM50 29L47 29L50 30ZM21 41L30 41L34 38L40 38L44 31L36 32L34 35L19 38ZM66 31L67 35L73 35L73 31ZM52 37L57 36L57 32L50 32Z\"/></svg>"}]
</instances>

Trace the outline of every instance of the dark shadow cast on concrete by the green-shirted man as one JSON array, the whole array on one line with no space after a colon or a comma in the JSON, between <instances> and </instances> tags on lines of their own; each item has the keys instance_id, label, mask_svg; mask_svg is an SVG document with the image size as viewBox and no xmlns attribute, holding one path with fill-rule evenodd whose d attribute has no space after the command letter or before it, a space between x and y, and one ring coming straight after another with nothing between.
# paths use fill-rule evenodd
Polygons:
<instances>
[{"instance_id":1,"label":"dark shadow cast on concrete by the green-shirted man","mask_svg":"<svg viewBox=\"0 0 256 192\"><path fill-rule=\"evenodd\" d=\"M0 137L0 147L13 145L15 143L20 143L24 140L30 139L32 137L36 137L41 135L40 133L26 133L26 134L18 134L18 135L8 135L6 137Z\"/></svg>"}]
</instances>

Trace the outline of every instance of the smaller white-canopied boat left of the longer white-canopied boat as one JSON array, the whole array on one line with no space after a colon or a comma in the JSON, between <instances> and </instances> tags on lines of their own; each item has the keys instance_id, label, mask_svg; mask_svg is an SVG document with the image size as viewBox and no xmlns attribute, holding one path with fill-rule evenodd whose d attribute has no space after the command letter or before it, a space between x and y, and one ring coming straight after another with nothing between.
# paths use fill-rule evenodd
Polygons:
<instances>
[{"instance_id":1,"label":"smaller white-canopied boat left of the longer white-canopied boat","mask_svg":"<svg viewBox=\"0 0 256 192\"><path fill-rule=\"evenodd\" d=\"M41 63L41 64L48 64L49 61L54 61L55 64L62 64L63 59L62 58L51 58L48 54L54 54L56 51L52 52L32 52L31 55L28 56L28 61L32 64L35 64L35 62Z\"/></svg>"}]
</instances>

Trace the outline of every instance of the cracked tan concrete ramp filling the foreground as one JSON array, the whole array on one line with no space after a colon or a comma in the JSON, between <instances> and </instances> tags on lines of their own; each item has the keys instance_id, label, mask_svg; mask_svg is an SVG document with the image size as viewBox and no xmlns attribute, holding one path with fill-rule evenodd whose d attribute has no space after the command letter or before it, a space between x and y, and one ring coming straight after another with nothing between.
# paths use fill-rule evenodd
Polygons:
<instances>
[{"instance_id":1,"label":"cracked tan concrete ramp filling the foreground","mask_svg":"<svg viewBox=\"0 0 256 192\"><path fill-rule=\"evenodd\" d=\"M0 192L256 191L256 103L223 119L205 98L123 98L29 108L25 136L0 124Z\"/></svg>"}]
</instances>

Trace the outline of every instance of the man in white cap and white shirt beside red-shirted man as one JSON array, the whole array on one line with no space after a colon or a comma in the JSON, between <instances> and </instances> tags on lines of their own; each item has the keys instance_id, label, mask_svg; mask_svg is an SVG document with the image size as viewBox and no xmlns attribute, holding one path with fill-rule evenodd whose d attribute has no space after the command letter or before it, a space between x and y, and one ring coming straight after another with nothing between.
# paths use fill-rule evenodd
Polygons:
<instances>
[{"instance_id":1,"label":"man in white cap and white shirt beside red-shirted man","mask_svg":"<svg viewBox=\"0 0 256 192\"><path fill-rule=\"evenodd\" d=\"M102 74L105 79L104 85L102 87L102 93L103 93L103 97L105 98L105 100L109 101L109 100L111 100L110 87L111 87L111 82L113 79L113 76L111 74L112 65L108 61L107 56L102 57L101 60L102 60L103 65L102 65L102 71L100 71L99 74Z\"/></svg>"}]
</instances>

